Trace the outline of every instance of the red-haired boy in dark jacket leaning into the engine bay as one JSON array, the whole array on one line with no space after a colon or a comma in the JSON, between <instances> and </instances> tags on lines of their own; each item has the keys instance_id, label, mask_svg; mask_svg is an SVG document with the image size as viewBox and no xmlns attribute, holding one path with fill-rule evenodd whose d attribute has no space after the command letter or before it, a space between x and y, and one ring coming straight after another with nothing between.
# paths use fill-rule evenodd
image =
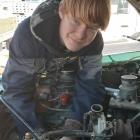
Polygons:
<instances>
[{"instance_id":1,"label":"red-haired boy in dark jacket leaning into the engine bay","mask_svg":"<svg viewBox=\"0 0 140 140\"><path fill-rule=\"evenodd\" d=\"M83 114L105 99L101 83L101 58L110 0L47 0L17 27L3 73L3 98L34 129L41 122L35 114L37 74L57 60L79 57L71 117L65 126L80 129ZM55 60L55 61L54 61ZM18 123L17 123L18 124ZM17 125L24 135L26 128Z\"/></svg>"}]
</instances>

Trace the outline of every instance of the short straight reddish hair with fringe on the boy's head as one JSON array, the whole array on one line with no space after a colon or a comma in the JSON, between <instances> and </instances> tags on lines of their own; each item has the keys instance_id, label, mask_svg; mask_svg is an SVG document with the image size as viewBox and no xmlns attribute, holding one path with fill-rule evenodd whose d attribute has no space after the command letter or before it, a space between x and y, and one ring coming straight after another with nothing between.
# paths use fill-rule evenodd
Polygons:
<instances>
[{"instance_id":1,"label":"short straight reddish hair with fringe on the boy's head","mask_svg":"<svg viewBox=\"0 0 140 140\"><path fill-rule=\"evenodd\" d=\"M62 0L65 11L88 26L105 30L110 19L110 0Z\"/></svg>"}]
</instances>

